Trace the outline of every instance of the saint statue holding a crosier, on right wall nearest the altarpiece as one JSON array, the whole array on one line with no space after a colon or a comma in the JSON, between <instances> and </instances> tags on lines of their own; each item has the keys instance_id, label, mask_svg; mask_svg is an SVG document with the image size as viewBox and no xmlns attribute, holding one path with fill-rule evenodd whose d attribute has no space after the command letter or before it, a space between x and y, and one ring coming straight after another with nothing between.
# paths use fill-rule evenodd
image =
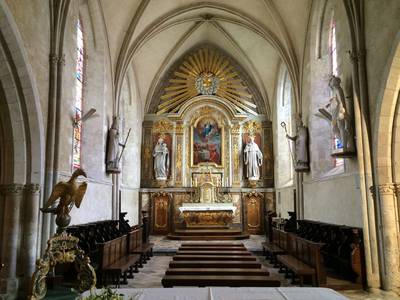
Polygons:
<instances>
[{"instance_id":1,"label":"saint statue holding a crosier, on right wall nearest the altarpiece","mask_svg":"<svg viewBox=\"0 0 400 300\"><path fill-rule=\"evenodd\" d=\"M305 172L310 169L308 160L308 131L303 125L300 116L296 116L295 136L286 134L286 137L295 142L294 144L294 169L297 172Z\"/></svg>"}]
</instances>

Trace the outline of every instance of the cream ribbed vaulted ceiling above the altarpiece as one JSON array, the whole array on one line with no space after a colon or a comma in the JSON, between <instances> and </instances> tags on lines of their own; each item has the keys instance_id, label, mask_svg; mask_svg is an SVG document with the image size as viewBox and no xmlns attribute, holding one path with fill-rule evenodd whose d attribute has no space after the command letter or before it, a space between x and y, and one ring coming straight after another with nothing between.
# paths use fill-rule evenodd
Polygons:
<instances>
[{"instance_id":1,"label":"cream ribbed vaulted ceiling above the altarpiece","mask_svg":"<svg viewBox=\"0 0 400 300\"><path fill-rule=\"evenodd\" d=\"M213 44L251 77L271 112L278 68L298 87L311 0L101 0L118 98L132 67L143 107L183 54ZM298 93L298 91L297 91ZM298 98L298 94L295 93Z\"/></svg>"}]
</instances>

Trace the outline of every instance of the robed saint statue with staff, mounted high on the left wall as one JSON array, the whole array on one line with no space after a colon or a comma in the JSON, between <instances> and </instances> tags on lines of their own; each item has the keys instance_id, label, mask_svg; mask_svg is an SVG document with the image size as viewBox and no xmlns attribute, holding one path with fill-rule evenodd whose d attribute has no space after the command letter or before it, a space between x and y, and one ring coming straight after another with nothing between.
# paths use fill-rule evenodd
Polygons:
<instances>
[{"instance_id":1,"label":"robed saint statue with staff, mounted high on the left wall","mask_svg":"<svg viewBox=\"0 0 400 300\"><path fill-rule=\"evenodd\" d=\"M107 143L107 173L120 173L119 167L120 152L119 147L124 146L119 141L119 126L118 117L113 118L113 123L108 131Z\"/></svg>"}]
</instances>

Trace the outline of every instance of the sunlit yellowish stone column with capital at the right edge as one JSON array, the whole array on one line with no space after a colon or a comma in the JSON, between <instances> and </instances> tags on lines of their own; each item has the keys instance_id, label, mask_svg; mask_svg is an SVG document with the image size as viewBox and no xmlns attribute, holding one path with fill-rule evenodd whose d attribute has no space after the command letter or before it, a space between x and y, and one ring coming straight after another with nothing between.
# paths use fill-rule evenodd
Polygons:
<instances>
[{"instance_id":1,"label":"sunlit yellowish stone column with capital at the right edge","mask_svg":"<svg viewBox=\"0 0 400 300\"><path fill-rule=\"evenodd\" d=\"M376 195L375 191L378 191ZM382 255L381 266L382 288L384 290L399 291L400 288L400 261L398 243L398 224L396 210L396 187L392 183L372 186L373 196L378 196L377 203L380 206L380 218L382 224Z\"/></svg>"}]
</instances>

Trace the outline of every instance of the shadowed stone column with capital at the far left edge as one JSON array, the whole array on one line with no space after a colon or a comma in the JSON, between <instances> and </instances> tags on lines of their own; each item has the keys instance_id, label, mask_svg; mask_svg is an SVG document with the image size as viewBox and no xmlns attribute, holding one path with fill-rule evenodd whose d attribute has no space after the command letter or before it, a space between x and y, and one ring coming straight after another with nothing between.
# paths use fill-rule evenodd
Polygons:
<instances>
[{"instance_id":1,"label":"shadowed stone column with capital at the far left edge","mask_svg":"<svg viewBox=\"0 0 400 300\"><path fill-rule=\"evenodd\" d=\"M1 187L4 199L4 226L2 232L1 257L4 269L1 272L0 293L15 295L18 289L17 259L19 242L19 223L21 202L24 195L22 184L10 184Z\"/></svg>"}]
</instances>

